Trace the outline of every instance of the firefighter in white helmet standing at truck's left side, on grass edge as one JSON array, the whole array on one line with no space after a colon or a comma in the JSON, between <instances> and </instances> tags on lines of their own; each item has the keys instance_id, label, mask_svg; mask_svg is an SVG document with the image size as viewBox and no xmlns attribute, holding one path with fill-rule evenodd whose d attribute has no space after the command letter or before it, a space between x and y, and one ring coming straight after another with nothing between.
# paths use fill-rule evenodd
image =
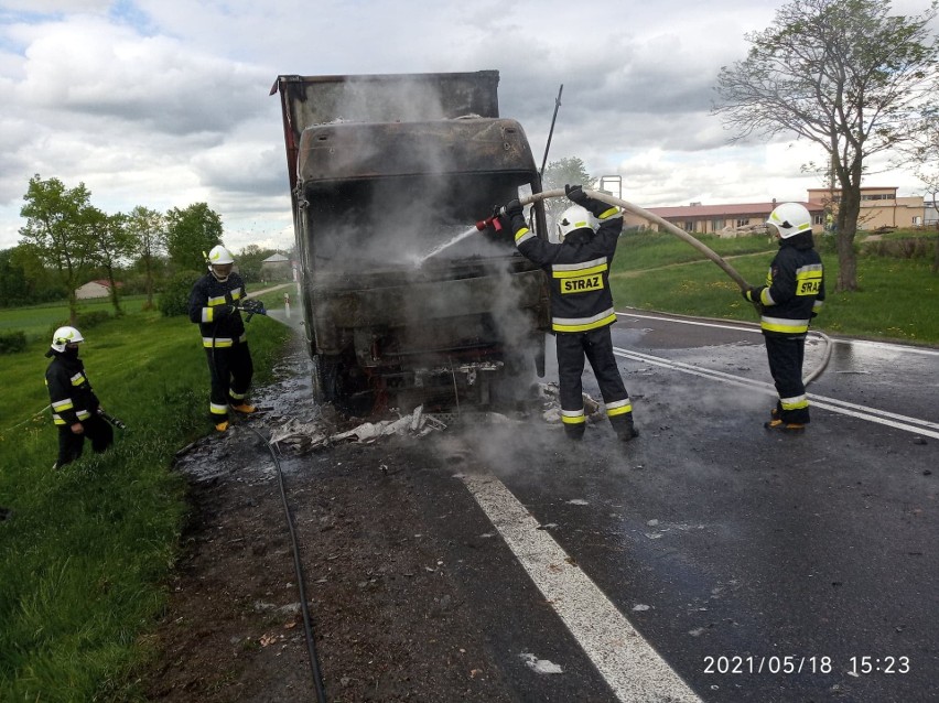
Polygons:
<instances>
[{"instance_id":1,"label":"firefighter in white helmet standing at truck's left side, on grass edge","mask_svg":"<svg viewBox=\"0 0 939 703\"><path fill-rule=\"evenodd\" d=\"M222 245L208 252L208 272L190 293L190 320L198 324L208 360L209 417L215 429L228 429L228 408L241 413L257 411L247 402L255 367L248 349L240 305L247 298L245 281L233 273L235 258Z\"/></svg>"}]
</instances>

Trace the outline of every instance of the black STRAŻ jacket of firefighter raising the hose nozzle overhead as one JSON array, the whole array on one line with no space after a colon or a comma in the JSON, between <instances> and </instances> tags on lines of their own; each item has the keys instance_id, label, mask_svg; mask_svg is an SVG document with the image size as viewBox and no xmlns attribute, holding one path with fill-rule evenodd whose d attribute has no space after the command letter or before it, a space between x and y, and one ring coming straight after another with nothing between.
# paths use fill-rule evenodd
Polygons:
<instances>
[{"instance_id":1,"label":"black STRA\u017b jacket of firefighter raising the hose nozzle overhead","mask_svg":"<svg viewBox=\"0 0 939 703\"><path fill-rule=\"evenodd\" d=\"M623 215L609 207L597 215L596 232L572 231L561 244L546 241L516 215L515 244L527 259L548 272L551 283L551 328L579 333L616 322L609 292L609 264L623 230Z\"/></svg>"}]
</instances>

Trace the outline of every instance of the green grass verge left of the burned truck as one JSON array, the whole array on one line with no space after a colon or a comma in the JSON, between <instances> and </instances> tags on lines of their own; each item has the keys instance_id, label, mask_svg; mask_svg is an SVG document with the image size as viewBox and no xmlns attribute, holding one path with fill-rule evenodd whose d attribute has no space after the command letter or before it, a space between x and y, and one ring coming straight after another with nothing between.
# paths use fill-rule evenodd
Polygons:
<instances>
[{"instance_id":1,"label":"green grass verge left of the burned truck","mask_svg":"<svg viewBox=\"0 0 939 703\"><path fill-rule=\"evenodd\" d=\"M0 506L13 511L0 522L0 701L134 700L127 682L149 653L141 635L163 607L186 510L184 479L170 467L212 431L205 355L188 320L136 313L85 334L95 390L129 429L61 472L43 410L47 342L0 357ZM251 321L256 382L289 334Z\"/></svg>"}]
</instances>

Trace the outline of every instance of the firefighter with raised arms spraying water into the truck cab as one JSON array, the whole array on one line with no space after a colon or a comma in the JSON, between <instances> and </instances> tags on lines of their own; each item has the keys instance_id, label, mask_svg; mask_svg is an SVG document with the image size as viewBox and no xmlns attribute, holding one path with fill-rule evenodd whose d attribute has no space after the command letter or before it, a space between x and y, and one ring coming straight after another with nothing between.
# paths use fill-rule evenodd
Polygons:
<instances>
[{"instance_id":1,"label":"firefighter with raised arms spraying water into the truck cab","mask_svg":"<svg viewBox=\"0 0 939 703\"><path fill-rule=\"evenodd\" d=\"M606 405L606 417L619 440L638 436L633 404L613 355L609 326L616 322L609 292L609 264L616 252L623 215L596 201L580 185L565 185L574 203L558 223L560 244L536 237L528 229L521 204L511 201L505 218L518 250L550 277L551 328L558 349L561 420L572 440L584 435L584 357L590 361Z\"/></svg>"}]
</instances>

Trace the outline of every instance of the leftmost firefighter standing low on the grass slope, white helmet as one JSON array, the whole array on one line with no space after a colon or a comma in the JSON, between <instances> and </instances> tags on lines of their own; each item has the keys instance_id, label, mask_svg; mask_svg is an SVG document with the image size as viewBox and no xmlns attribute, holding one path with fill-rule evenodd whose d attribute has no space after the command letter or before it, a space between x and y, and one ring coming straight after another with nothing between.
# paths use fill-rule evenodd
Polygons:
<instances>
[{"instance_id":1,"label":"leftmost firefighter standing low on the grass slope, white helmet","mask_svg":"<svg viewBox=\"0 0 939 703\"><path fill-rule=\"evenodd\" d=\"M85 340L75 327L60 327L52 335L45 353L52 358L45 370L45 385L52 404L52 420L58 428L58 469L82 456L85 440L100 454L115 439L114 430L99 414L101 403L85 375L85 364L78 358L78 345Z\"/></svg>"}]
</instances>

